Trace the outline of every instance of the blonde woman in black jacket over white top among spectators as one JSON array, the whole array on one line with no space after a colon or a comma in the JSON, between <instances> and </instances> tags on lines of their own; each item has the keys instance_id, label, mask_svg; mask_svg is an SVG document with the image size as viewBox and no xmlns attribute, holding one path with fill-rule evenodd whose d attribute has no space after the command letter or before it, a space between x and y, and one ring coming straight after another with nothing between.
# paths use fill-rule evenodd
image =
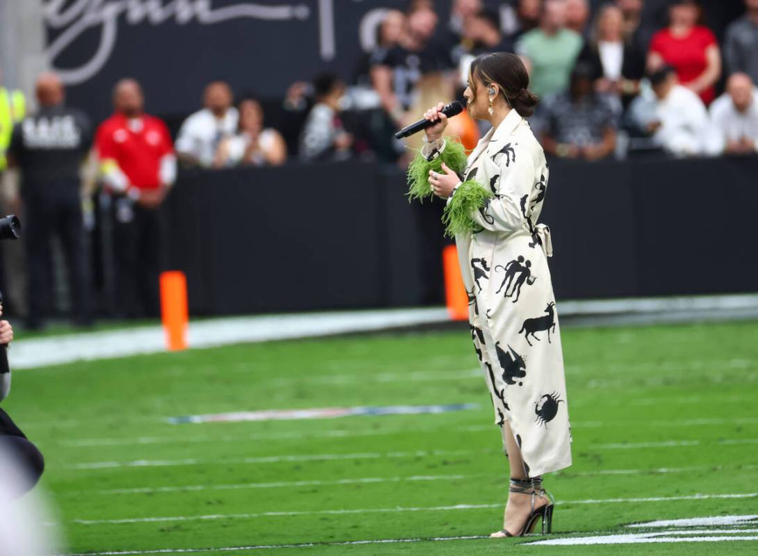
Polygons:
<instances>
[{"instance_id":1,"label":"blonde woman in black jacket over white top among spectators","mask_svg":"<svg viewBox=\"0 0 758 556\"><path fill-rule=\"evenodd\" d=\"M620 96L624 106L639 93L645 73L645 52L634 43L624 42L623 14L608 4L600 8L590 40L584 44L579 60L594 70L595 88L599 93Z\"/></svg>"}]
</instances>

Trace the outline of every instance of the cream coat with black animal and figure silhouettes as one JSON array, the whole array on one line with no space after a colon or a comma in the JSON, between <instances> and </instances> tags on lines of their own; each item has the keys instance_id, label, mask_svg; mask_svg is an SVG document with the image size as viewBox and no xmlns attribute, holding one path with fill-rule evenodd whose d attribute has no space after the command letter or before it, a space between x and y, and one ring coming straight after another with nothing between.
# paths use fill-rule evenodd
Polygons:
<instances>
[{"instance_id":1,"label":"cream coat with black animal and figure silhouettes","mask_svg":"<svg viewBox=\"0 0 758 556\"><path fill-rule=\"evenodd\" d=\"M494 197L472 215L479 230L456 236L471 338L495 422L509 421L529 476L572 463L560 328L547 267L550 230L537 225L547 177L542 147L512 110L468 156L464 181L475 179Z\"/></svg>"}]
</instances>

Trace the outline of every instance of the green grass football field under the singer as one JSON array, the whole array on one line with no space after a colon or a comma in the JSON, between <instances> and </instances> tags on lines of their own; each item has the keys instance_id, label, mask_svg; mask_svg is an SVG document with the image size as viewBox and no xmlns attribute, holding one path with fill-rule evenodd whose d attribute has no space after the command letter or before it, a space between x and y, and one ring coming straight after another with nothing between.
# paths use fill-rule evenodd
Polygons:
<instances>
[{"instance_id":1,"label":"green grass football field under the singer","mask_svg":"<svg viewBox=\"0 0 758 556\"><path fill-rule=\"evenodd\" d=\"M546 478L559 503L548 539L758 514L758 323L572 328L563 343L574 465ZM42 488L71 553L219 554L211 549L299 543L315 545L221 553L758 552L755 540L428 540L484 536L502 524L507 463L477 369L465 328L274 342L20 371L3 407L45 454ZM167 422L464 403L478 409ZM427 540L338 544L377 539Z\"/></svg>"}]
</instances>

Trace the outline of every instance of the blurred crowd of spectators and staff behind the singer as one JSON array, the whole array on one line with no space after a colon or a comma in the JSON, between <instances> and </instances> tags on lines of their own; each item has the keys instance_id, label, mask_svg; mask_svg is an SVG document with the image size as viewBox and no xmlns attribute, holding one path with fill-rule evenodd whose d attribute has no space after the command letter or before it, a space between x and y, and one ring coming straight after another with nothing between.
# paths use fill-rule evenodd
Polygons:
<instances>
[{"instance_id":1,"label":"blurred crowd of spectators and staff behind the singer","mask_svg":"<svg viewBox=\"0 0 758 556\"><path fill-rule=\"evenodd\" d=\"M512 0L496 11L481 0L454 0L449 14L431 0L409 0L405 11L383 12L352 77L296 81L276 102L235 95L213 81L202 108L173 133L145 112L133 79L116 83L114 113L97 127L66 105L54 74L39 77L33 114L23 95L0 81L2 200L6 212L23 209L26 228L23 253L3 247L13 272L0 276L0 287L26 291L25 302L14 296L13 308L31 327L53 310L56 266L67 269L64 288L76 322L89 324L102 312L88 303L93 281L117 291L111 315L154 316L163 266L159 209L177 171L292 159L403 165L421 134L399 142L392 132L437 102L460 99L471 61L487 52L522 57L541 99L530 124L550 156L756 152L758 0L744 4L743 16L713 30L695 0L672 0L656 24L643 17L644 0L612 0L594 10L587 0ZM484 125L464 112L451 119L449 134L473 149ZM107 228L112 250L96 244L103 234L85 237L83 229L95 228ZM58 250L51 249L53 237ZM23 260L28 279L14 284ZM112 269L109 280L103 269Z\"/></svg>"}]
</instances>

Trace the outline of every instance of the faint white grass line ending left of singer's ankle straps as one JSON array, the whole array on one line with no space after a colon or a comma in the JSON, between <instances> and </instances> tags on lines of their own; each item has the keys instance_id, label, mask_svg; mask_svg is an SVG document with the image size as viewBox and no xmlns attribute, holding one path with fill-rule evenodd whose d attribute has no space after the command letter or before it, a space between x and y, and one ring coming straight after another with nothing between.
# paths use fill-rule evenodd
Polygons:
<instances>
[{"instance_id":1,"label":"faint white grass line ending left of singer's ankle straps","mask_svg":"<svg viewBox=\"0 0 758 556\"><path fill-rule=\"evenodd\" d=\"M159 486L155 488L108 488L95 491L101 495L136 495L155 494L156 492L186 492L203 490L242 490L245 488L298 488L301 486L358 485L376 482L417 482L417 481L457 481L484 475L414 475L409 477L361 477L359 479L336 479L333 481L279 481L279 482L240 482L230 485L187 485ZM80 491L85 492L85 491Z\"/></svg>"}]
</instances>

